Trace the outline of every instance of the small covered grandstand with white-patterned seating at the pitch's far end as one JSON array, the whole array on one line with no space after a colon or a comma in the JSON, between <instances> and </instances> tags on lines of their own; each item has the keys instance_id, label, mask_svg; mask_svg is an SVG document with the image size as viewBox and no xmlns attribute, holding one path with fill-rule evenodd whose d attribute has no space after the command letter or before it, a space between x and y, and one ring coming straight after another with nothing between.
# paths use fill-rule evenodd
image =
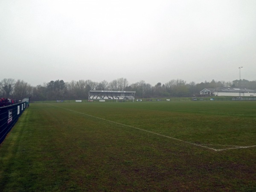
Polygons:
<instances>
[{"instance_id":1,"label":"small covered grandstand with white-patterned seating at the pitch's far end","mask_svg":"<svg viewBox=\"0 0 256 192\"><path fill-rule=\"evenodd\" d=\"M88 99L134 99L136 91L90 90Z\"/></svg>"}]
</instances>

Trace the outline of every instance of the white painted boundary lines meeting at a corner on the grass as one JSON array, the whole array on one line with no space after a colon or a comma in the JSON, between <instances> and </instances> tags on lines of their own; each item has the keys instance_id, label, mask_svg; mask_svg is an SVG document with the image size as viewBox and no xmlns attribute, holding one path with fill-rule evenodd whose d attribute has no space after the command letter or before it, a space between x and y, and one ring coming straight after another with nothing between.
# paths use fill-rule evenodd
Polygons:
<instances>
[{"instance_id":1,"label":"white painted boundary lines meeting at a corner on the grass","mask_svg":"<svg viewBox=\"0 0 256 192\"><path fill-rule=\"evenodd\" d=\"M50 105L50 104L49 104L49 105ZM55 106L55 105L53 105L53 106ZM55 106L55 107L57 107L57 106ZM61 107L58 107L58 108L61 108ZM80 113L80 114L87 115L87 116L91 116L91 117L93 117L93 118L97 118L97 119L101 119L101 120L104 120L104 121L112 122L112 123L115 123L115 124L118 124L118 125L122 125L122 126L125 126L125 127L130 127L130 128L138 129L138 130L140 130L140 131L145 131L145 132L148 132L148 133L151 133L151 134L156 134L156 135L158 135L158 136L167 137L167 138L169 138L169 139L177 140L177 141L180 141L180 142L183 142L183 143L188 143L188 144L190 144L190 145L195 145L195 146L198 146L198 147L203 147L203 148L211 149L211 150L213 150L213 151L224 151L224 150L230 150L230 149L256 147L256 145L251 145L251 146L215 145L215 146L230 146L230 148L215 149L215 148L207 147L207 145L214 145L214 144L201 144L201 145L199 145L199 144L196 144L196 143L191 143L191 142L188 142L188 141L180 140L180 139L177 139L177 138L174 138L174 137L169 137L169 136L166 136L166 135L163 135L163 134L158 134L158 133L155 133L155 132L152 132L152 131L148 131L148 130L145 130L145 129L133 127L133 126L130 126L130 125L125 125L125 124L122 124L122 123L119 123L119 122L110 121L110 120L108 120L108 119L103 119L103 118L100 118L100 117L97 117L97 116L93 116L93 115L89 115L89 114L86 114L86 113L81 113L81 112L78 112L78 111L73 111L73 110L71 110L71 109L66 109L66 108L62 108L62 109L65 109L65 110L68 110L68 111L72 111L72 112L75 112L75 113ZM231 147L231 146L232 146L232 147Z\"/></svg>"}]
</instances>

